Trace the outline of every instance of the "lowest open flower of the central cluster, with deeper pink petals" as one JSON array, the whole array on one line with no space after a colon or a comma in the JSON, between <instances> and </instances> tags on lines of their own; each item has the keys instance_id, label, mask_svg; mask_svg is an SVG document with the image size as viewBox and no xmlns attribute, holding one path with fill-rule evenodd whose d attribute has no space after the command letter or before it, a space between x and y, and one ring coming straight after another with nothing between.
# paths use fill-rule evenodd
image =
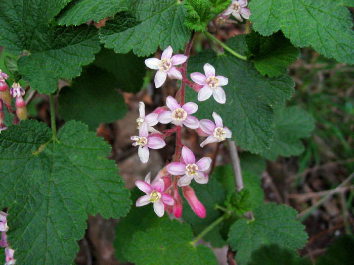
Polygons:
<instances>
[{"instance_id":1,"label":"lowest open flower of the central cluster, with deeper pink petals","mask_svg":"<svg viewBox=\"0 0 354 265\"><path fill-rule=\"evenodd\" d=\"M163 203L166 203L167 205L174 204L173 198L170 195L163 193L165 191L165 184L162 179L156 179L150 185L150 173L146 175L145 181L138 180L135 182L135 185L146 193L146 195L141 196L137 200L137 207L152 202L154 204L156 215L162 217L165 212L165 205Z\"/></svg>"}]
</instances>

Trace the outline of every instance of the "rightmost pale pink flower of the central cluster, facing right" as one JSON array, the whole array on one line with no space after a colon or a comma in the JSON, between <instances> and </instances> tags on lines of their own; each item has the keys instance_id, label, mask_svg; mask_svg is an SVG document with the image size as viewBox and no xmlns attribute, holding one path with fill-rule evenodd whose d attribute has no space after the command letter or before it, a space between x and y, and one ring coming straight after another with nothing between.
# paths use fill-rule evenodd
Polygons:
<instances>
[{"instance_id":1,"label":"rightmost pale pink flower of the central cluster, facing right","mask_svg":"<svg viewBox=\"0 0 354 265\"><path fill-rule=\"evenodd\" d=\"M207 119L203 119L199 122L202 131L209 135L208 138L200 144L201 147L209 143L222 142L225 138L231 138L232 136L232 132L227 127L223 127L223 119L216 112L212 113L212 117L214 118L215 124Z\"/></svg>"}]
</instances>

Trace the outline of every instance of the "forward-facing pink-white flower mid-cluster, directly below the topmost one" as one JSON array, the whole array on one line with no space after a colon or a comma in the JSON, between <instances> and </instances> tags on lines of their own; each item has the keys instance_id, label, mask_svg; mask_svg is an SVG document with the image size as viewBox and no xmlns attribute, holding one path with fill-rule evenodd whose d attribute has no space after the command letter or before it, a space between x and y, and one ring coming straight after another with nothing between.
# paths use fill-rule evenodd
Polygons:
<instances>
[{"instance_id":1,"label":"forward-facing pink-white flower mid-cluster, directly below the topmost one","mask_svg":"<svg viewBox=\"0 0 354 265\"><path fill-rule=\"evenodd\" d=\"M159 114L157 120L160 123L173 123L181 127L185 125L191 129L199 128L198 119L190 115L197 112L198 105L196 103L188 102L181 107L177 100L172 96L168 96L166 105L170 111L163 111Z\"/></svg>"}]
</instances>

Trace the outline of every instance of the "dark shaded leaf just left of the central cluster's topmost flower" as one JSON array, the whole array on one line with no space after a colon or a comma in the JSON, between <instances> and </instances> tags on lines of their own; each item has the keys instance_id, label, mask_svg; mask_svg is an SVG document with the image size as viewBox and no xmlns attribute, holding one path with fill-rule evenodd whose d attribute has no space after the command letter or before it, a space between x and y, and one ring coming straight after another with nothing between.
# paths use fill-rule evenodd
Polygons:
<instances>
[{"instance_id":1,"label":"dark shaded leaf just left of the central cluster's topmost flower","mask_svg":"<svg viewBox=\"0 0 354 265\"><path fill-rule=\"evenodd\" d=\"M112 49L102 48L94 64L114 74L118 87L125 92L137 93L141 90L146 74L145 58L127 54L116 54Z\"/></svg>"}]
</instances>

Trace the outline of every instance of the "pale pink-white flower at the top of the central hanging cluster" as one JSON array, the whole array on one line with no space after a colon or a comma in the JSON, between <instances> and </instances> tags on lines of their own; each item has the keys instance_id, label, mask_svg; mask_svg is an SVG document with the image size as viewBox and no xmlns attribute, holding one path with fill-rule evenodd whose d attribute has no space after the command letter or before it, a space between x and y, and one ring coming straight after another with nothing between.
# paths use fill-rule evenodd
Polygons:
<instances>
[{"instance_id":1,"label":"pale pink-white flower at the top of the central hanging cluster","mask_svg":"<svg viewBox=\"0 0 354 265\"><path fill-rule=\"evenodd\" d=\"M175 68L175 65L181 65L187 60L185 55L174 55L172 56L172 47L168 46L161 56L161 60L157 58L149 58L145 60L145 64L150 69L158 70L155 75L155 87L158 88L162 86L165 82L167 75L171 79L182 80L181 72ZM172 58L171 58L172 56Z\"/></svg>"}]
</instances>

